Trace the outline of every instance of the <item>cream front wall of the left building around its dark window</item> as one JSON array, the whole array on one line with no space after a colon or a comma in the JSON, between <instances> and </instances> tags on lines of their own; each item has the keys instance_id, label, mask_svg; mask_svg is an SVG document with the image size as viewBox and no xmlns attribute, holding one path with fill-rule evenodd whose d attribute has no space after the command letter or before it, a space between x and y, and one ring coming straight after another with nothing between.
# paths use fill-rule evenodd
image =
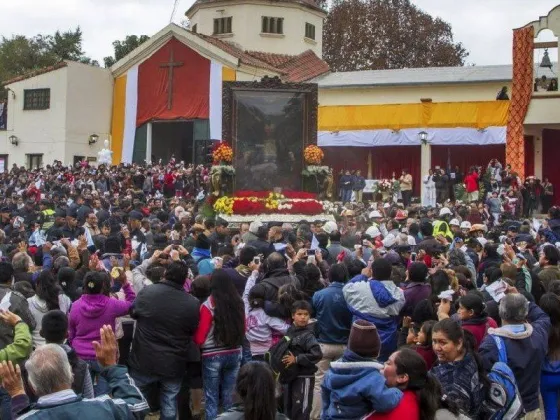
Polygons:
<instances>
[{"instance_id":1,"label":"cream front wall of the left building around its dark window","mask_svg":"<svg viewBox=\"0 0 560 420\"><path fill-rule=\"evenodd\" d=\"M50 163L64 157L66 125L66 96L68 68L51 71L9 85L15 98L8 93L8 130L0 142L0 154L8 154L8 162L27 164L27 154L42 153L43 162ZM50 88L50 109L23 110L24 89ZM15 135L19 145L9 144ZM2 137L0 137L0 140Z\"/></svg>"}]
</instances>

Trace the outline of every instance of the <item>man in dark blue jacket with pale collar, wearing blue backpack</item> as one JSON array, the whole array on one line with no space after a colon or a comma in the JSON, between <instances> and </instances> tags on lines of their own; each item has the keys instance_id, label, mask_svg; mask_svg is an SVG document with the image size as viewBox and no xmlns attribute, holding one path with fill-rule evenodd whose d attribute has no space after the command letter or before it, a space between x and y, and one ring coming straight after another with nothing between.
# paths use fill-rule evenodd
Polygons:
<instances>
[{"instance_id":1,"label":"man in dark blue jacket with pale collar, wearing blue backpack","mask_svg":"<svg viewBox=\"0 0 560 420\"><path fill-rule=\"evenodd\" d=\"M501 328L489 328L478 352L487 371L498 361L498 348L492 335L502 338L507 364L515 375L523 400L526 419L540 419L539 380L548 352L550 318L537 305L529 303L515 288L500 301Z\"/></svg>"}]
</instances>

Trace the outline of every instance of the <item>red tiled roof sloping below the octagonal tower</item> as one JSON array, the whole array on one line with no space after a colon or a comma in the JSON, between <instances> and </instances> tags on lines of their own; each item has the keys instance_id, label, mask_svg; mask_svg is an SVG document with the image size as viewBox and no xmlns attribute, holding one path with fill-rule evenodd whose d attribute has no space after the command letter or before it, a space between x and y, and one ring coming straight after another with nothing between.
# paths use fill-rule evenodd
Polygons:
<instances>
[{"instance_id":1,"label":"red tiled roof sloping below the octagonal tower","mask_svg":"<svg viewBox=\"0 0 560 420\"><path fill-rule=\"evenodd\" d=\"M243 51L231 42L210 35L193 34L237 57L243 64L278 73L287 82L305 82L329 71L329 65L311 50L298 55Z\"/></svg>"}]
</instances>

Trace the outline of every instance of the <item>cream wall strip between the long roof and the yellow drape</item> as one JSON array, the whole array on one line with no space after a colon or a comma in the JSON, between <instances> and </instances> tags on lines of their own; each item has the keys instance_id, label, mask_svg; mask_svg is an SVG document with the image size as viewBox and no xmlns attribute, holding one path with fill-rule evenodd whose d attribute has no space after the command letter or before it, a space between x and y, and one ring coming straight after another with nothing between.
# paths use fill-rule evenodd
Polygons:
<instances>
[{"instance_id":1,"label":"cream wall strip between the long roof and the yellow drape","mask_svg":"<svg viewBox=\"0 0 560 420\"><path fill-rule=\"evenodd\" d=\"M321 89L319 82L319 105L406 104L419 103L421 98L433 102L491 101L502 86L503 82ZM511 90L509 84L506 86Z\"/></svg>"}]
</instances>

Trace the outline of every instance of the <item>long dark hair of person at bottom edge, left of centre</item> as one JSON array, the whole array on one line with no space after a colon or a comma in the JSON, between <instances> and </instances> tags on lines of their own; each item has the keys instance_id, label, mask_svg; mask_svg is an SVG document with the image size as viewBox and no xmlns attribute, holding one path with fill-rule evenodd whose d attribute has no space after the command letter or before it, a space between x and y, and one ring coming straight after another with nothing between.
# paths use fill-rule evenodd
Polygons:
<instances>
[{"instance_id":1,"label":"long dark hair of person at bottom edge, left of centre","mask_svg":"<svg viewBox=\"0 0 560 420\"><path fill-rule=\"evenodd\" d=\"M272 371L263 362L249 362L239 370L236 390L243 400L245 420L276 418L275 382Z\"/></svg>"}]
</instances>

